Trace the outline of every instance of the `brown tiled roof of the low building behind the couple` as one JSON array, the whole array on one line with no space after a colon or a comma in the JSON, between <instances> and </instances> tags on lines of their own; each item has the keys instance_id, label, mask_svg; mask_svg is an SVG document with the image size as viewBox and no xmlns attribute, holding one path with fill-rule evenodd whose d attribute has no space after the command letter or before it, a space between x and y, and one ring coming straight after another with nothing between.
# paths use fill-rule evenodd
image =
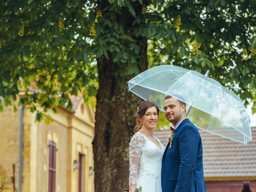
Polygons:
<instances>
[{"instance_id":1,"label":"brown tiled roof of the low building behind the couple","mask_svg":"<svg viewBox=\"0 0 256 192\"><path fill-rule=\"evenodd\" d=\"M203 143L204 176L256 177L256 127L252 127L252 141L246 146L204 130L199 130ZM155 131L155 136L167 145L169 130Z\"/></svg>"}]
</instances>

